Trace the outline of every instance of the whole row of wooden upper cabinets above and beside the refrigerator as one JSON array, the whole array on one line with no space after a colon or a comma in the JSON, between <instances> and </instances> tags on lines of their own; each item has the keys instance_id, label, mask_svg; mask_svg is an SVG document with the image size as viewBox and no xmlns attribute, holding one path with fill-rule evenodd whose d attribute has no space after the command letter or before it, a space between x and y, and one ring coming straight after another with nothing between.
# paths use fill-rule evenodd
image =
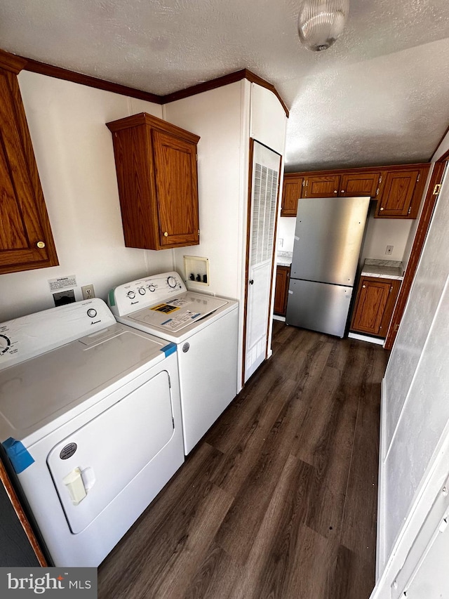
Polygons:
<instances>
[{"instance_id":1,"label":"whole row of wooden upper cabinets above and beside the refrigerator","mask_svg":"<svg viewBox=\"0 0 449 599\"><path fill-rule=\"evenodd\" d=\"M370 196L375 218L416 218L430 164L286 173L281 216L296 216L300 197Z\"/></svg>"}]
</instances>

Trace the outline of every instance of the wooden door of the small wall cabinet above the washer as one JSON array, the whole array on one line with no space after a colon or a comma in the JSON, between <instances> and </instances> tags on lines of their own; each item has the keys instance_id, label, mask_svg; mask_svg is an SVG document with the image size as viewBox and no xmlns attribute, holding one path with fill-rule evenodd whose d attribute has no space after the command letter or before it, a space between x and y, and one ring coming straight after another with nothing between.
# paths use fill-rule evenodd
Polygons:
<instances>
[{"instance_id":1,"label":"wooden door of the small wall cabinet above the washer","mask_svg":"<svg viewBox=\"0 0 449 599\"><path fill-rule=\"evenodd\" d=\"M199 243L196 145L152 129L162 247Z\"/></svg>"}]
</instances>

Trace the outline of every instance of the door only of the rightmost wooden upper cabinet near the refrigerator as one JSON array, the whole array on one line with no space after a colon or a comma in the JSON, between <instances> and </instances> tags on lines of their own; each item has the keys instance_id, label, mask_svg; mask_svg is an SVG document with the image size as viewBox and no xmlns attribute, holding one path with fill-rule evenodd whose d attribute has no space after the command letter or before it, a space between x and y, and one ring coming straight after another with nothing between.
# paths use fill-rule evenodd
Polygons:
<instances>
[{"instance_id":1,"label":"door only of the rightmost wooden upper cabinet near the refrigerator","mask_svg":"<svg viewBox=\"0 0 449 599\"><path fill-rule=\"evenodd\" d=\"M384 218L416 218L411 216L415 187L420 169L387 171L377 197L375 216Z\"/></svg>"}]
</instances>

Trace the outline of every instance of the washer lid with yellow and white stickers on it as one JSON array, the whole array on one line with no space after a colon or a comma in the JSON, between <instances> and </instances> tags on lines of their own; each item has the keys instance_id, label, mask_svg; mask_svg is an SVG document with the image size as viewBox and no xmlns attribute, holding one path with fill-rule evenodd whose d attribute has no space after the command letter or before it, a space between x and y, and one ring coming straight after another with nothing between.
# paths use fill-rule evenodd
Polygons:
<instances>
[{"instance_id":1,"label":"washer lid with yellow and white stickers on it","mask_svg":"<svg viewBox=\"0 0 449 599\"><path fill-rule=\"evenodd\" d=\"M187 291L128 315L130 321L175 333L229 303L225 299Z\"/></svg>"}]
</instances>

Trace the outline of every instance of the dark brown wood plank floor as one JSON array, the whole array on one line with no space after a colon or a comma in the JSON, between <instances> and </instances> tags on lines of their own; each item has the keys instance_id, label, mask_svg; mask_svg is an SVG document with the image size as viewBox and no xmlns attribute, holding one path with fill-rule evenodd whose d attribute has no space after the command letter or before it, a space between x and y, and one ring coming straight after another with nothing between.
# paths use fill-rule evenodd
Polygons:
<instances>
[{"instance_id":1,"label":"dark brown wood plank floor","mask_svg":"<svg viewBox=\"0 0 449 599\"><path fill-rule=\"evenodd\" d=\"M100 565L100 599L368 599L380 345L274 322L273 356Z\"/></svg>"}]
</instances>

